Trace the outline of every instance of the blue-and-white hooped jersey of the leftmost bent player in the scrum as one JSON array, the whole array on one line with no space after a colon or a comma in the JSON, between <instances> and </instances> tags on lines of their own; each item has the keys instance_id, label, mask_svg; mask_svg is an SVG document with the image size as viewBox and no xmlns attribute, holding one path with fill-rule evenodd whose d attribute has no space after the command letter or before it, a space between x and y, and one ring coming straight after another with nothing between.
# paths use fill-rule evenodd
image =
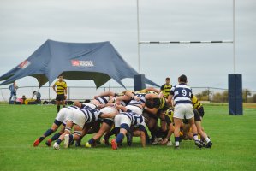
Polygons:
<instances>
[{"instance_id":1,"label":"blue-and-white hooped jersey of the leftmost bent player in the scrum","mask_svg":"<svg viewBox=\"0 0 256 171\"><path fill-rule=\"evenodd\" d=\"M83 112L86 117L86 123L98 121L98 109L92 109L89 106L84 106L83 108L79 108L76 106L68 106L68 109L78 109L81 112Z\"/></svg>"}]
</instances>

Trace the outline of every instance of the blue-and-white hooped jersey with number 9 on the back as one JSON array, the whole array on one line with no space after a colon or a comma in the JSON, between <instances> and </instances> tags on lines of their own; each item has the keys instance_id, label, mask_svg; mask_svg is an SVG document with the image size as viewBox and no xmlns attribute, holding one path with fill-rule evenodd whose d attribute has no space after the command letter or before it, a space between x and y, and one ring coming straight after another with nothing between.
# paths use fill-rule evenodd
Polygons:
<instances>
[{"instance_id":1,"label":"blue-and-white hooped jersey with number 9 on the back","mask_svg":"<svg viewBox=\"0 0 256 171\"><path fill-rule=\"evenodd\" d=\"M173 95L174 104L191 103L192 89L186 84L175 85L170 89L170 94Z\"/></svg>"}]
</instances>

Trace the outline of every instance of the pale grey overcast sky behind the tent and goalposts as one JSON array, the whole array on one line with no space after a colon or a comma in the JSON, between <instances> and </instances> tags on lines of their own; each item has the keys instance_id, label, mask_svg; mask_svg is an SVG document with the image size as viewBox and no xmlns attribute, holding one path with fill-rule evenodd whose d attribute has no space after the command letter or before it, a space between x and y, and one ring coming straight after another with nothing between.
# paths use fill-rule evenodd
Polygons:
<instances>
[{"instance_id":1,"label":"pale grey overcast sky behind the tent and goalposts","mask_svg":"<svg viewBox=\"0 0 256 171\"><path fill-rule=\"evenodd\" d=\"M232 0L140 0L140 40L232 40ZM256 3L236 0L236 73L256 91ZM47 39L110 41L138 70L136 0L1 0L0 75ZM228 87L233 44L141 44L140 73L162 85L187 74L191 86ZM17 81L38 85L33 78ZM68 85L92 85L71 81ZM124 80L125 85L133 81ZM116 85L114 81L112 85ZM4 86L3 86L4 87ZM6 87L6 86L5 86Z\"/></svg>"}]
</instances>

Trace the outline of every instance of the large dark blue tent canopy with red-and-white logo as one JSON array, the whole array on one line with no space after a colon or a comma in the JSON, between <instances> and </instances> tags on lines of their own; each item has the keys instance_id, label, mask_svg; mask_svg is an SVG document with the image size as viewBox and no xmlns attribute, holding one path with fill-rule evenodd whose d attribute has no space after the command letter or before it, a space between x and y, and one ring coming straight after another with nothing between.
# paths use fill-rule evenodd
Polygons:
<instances>
[{"instance_id":1,"label":"large dark blue tent canopy with red-and-white logo","mask_svg":"<svg viewBox=\"0 0 256 171\"><path fill-rule=\"evenodd\" d=\"M0 77L0 85L7 85L26 76L39 81L39 86L49 85L59 74L67 80L93 80L97 88L110 78L120 85L124 78L134 78L138 74L110 44L65 43L47 40L38 50L18 66ZM146 79L146 84L158 86Z\"/></svg>"}]
</instances>

